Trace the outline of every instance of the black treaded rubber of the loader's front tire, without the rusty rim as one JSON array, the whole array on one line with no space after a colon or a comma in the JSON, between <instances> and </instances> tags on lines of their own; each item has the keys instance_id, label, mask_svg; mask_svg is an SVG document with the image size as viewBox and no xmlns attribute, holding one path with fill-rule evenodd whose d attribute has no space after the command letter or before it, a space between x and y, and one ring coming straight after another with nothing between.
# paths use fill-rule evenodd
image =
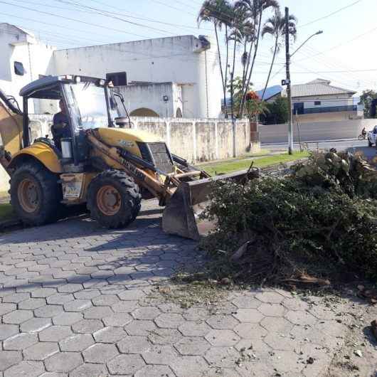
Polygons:
<instances>
[{"instance_id":1,"label":"black treaded rubber of the loader's front tire, without the rusty rim","mask_svg":"<svg viewBox=\"0 0 377 377\"><path fill-rule=\"evenodd\" d=\"M97 191L102 184L114 184L122 195L122 208L114 216L104 216L97 208ZM139 192L139 186L134 179L125 171L110 169L102 171L92 182L90 182L87 191L87 209L90 211L90 217L98 221L106 228L125 228L132 223L141 208L142 195Z\"/></svg>"}]
</instances>

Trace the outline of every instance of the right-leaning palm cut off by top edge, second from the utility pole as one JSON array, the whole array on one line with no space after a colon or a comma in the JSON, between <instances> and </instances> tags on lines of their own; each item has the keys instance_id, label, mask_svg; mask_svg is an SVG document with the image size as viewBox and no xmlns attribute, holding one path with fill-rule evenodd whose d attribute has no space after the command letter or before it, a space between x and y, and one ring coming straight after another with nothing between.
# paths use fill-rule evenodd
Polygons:
<instances>
[{"instance_id":1,"label":"right-leaning palm cut off by top edge, second from the utility pole","mask_svg":"<svg viewBox=\"0 0 377 377\"><path fill-rule=\"evenodd\" d=\"M247 11L249 11L253 19L253 25L255 26L255 28L257 28L257 30L254 32L254 38L253 38L253 43L255 44L253 60L250 65L250 69L246 70L247 80L245 80L245 87L248 87L250 84L251 75L253 74L255 58L257 57L257 50L258 50L259 41L260 41L262 14L267 9L279 8L279 4L277 3L277 0L239 0L235 3L235 6L244 8ZM251 52L251 48L250 48L250 52ZM251 56L249 56L248 58L249 64L250 64L250 58ZM241 104L240 104L240 111L239 111L240 116L243 115L243 107L245 105L245 95L246 95L246 92L244 91L243 99L241 100Z\"/></svg>"}]
</instances>

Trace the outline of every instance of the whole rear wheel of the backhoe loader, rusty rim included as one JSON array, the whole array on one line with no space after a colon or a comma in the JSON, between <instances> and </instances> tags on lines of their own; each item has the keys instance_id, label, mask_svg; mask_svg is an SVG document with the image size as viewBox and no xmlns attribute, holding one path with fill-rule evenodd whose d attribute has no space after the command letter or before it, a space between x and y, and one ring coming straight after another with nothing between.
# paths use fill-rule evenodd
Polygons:
<instances>
[{"instance_id":1,"label":"whole rear wheel of the backhoe loader, rusty rim included","mask_svg":"<svg viewBox=\"0 0 377 377\"><path fill-rule=\"evenodd\" d=\"M62 190L58 176L38 162L18 166L11 176L11 205L27 225L44 225L58 220Z\"/></svg>"}]
</instances>

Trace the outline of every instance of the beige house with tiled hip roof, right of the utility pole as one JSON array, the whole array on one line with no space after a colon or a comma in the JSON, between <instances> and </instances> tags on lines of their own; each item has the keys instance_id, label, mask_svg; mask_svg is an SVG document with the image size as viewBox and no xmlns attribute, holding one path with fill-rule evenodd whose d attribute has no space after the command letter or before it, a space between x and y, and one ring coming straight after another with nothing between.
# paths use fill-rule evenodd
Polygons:
<instances>
[{"instance_id":1,"label":"beige house with tiled hip roof, right of the utility pole","mask_svg":"<svg viewBox=\"0 0 377 377\"><path fill-rule=\"evenodd\" d=\"M330 85L331 81L317 78L306 84L292 85L292 112L299 122L332 122L363 117L354 105L354 90ZM274 102L287 96L286 89L266 99Z\"/></svg>"}]
</instances>

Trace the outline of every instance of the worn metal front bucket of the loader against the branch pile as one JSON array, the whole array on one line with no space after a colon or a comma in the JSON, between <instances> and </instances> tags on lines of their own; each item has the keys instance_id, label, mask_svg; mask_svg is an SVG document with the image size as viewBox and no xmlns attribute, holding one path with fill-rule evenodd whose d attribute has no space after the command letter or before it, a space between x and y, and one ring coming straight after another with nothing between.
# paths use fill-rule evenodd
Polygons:
<instances>
[{"instance_id":1,"label":"worn metal front bucket of the loader against the branch pile","mask_svg":"<svg viewBox=\"0 0 377 377\"><path fill-rule=\"evenodd\" d=\"M228 179L246 181L250 176L255 176L255 171L237 171L213 178L181 182L164 209L162 229L169 234L198 240L201 235L214 228L213 223L198 218L208 205L212 182Z\"/></svg>"}]
</instances>

